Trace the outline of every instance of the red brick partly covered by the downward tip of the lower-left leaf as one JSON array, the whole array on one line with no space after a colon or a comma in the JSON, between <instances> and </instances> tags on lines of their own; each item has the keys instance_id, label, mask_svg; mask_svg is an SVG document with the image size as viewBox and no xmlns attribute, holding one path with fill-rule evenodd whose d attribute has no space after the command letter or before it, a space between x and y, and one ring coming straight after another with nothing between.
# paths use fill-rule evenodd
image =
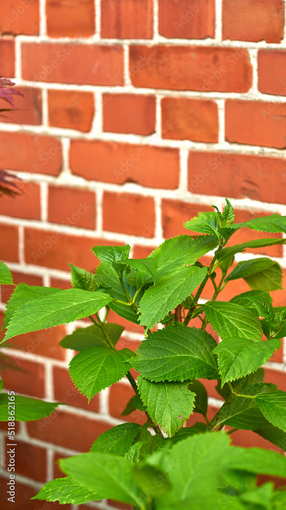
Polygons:
<instances>
[{"instance_id":1,"label":"red brick partly covered by the downward tip of the lower-left leaf","mask_svg":"<svg viewBox=\"0 0 286 510\"><path fill-rule=\"evenodd\" d=\"M61 347L63 351L65 349ZM88 398L78 391L65 368L53 368L54 399L74 407L82 407L88 411L99 411L99 395L95 395L88 403Z\"/></svg>"}]
</instances>

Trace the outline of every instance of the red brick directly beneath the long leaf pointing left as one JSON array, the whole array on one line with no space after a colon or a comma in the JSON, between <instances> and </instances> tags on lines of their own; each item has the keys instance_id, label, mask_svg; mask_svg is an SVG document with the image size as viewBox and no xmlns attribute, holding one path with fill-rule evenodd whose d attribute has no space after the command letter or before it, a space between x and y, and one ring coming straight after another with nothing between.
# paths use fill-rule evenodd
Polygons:
<instances>
[{"instance_id":1,"label":"red brick directly beneath the long leaf pointing left","mask_svg":"<svg viewBox=\"0 0 286 510\"><path fill-rule=\"evenodd\" d=\"M12 347L30 354L40 354L48 358L65 360L66 351L59 342L66 336L64 325L33 331L25 335L18 335L11 340Z\"/></svg>"}]
</instances>

